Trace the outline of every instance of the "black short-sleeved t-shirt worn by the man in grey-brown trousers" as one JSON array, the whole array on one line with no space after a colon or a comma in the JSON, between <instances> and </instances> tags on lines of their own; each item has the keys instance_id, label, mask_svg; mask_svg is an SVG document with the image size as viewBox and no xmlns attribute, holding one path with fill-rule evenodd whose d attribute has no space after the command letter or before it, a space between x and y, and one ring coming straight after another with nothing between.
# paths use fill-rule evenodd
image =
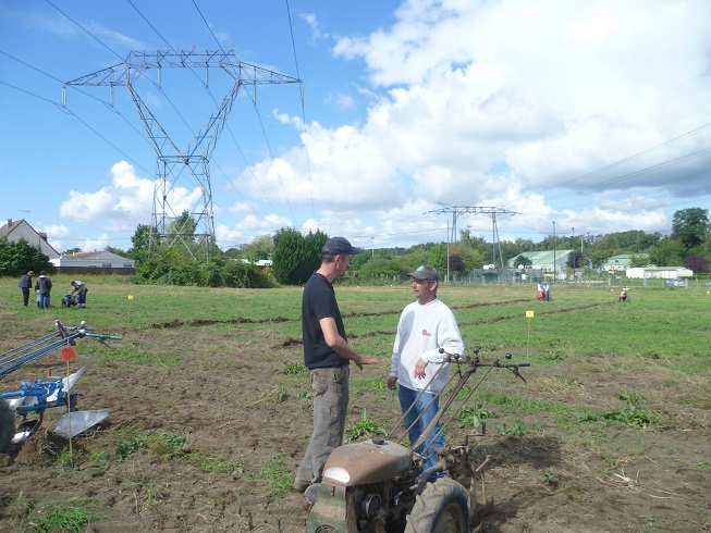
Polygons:
<instances>
[{"instance_id":1,"label":"black short-sleeved t-shirt worn by the man in grey-brown trousers","mask_svg":"<svg viewBox=\"0 0 711 533\"><path fill-rule=\"evenodd\" d=\"M304 339L304 364L307 369L327 369L347 367L348 360L338 355L327 343L319 320L335 320L339 334L346 338L343 318L335 301L333 285L326 276L315 272L306 286L302 298L302 332Z\"/></svg>"}]
</instances>

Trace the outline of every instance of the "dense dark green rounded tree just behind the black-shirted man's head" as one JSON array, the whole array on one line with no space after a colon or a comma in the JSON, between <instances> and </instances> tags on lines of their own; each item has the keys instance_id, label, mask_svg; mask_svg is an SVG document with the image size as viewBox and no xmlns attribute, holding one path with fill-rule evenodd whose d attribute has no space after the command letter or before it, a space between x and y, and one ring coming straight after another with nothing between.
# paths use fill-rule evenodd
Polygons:
<instances>
[{"instance_id":1,"label":"dense dark green rounded tree just behind the black-shirted man's head","mask_svg":"<svg viewBox=\"0 0 711 533\"><path fill-rule=\"evenodd\" d=\"M279 283L303 285L321 261L321 248L328 236L317 231L304 236L294 228L282 227L274 234L272 272Z\"/></svg>"}]
</instances>

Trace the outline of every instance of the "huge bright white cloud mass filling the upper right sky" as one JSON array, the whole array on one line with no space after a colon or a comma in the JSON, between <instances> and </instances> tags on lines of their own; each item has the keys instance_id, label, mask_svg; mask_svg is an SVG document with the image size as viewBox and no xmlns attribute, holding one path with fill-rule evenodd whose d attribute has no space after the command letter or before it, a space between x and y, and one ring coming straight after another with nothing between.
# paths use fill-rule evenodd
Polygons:
<instances>
[{"instance_id":1,"label":"huge bright white cloud mass filling the upper right sky","mask_svg":"<svg viewBox=\"0 0 711 533\"><path fill-rule=\"evenodd\" d=\"M503 202L527 213L512 223L548 232L554 215L602 233L625 216L624 227L669 227L660 187L703 187L711 128L695 129L711 115L711 3L413 0L395 14L392 27L335 42L390 89L361 127L307 128L311 181L303 156L285 154L290 198L312 191L383 233L412 225L400 211L413 198ZM596 203L605 193L616 208Z\"/></svg>"}]
</instances>

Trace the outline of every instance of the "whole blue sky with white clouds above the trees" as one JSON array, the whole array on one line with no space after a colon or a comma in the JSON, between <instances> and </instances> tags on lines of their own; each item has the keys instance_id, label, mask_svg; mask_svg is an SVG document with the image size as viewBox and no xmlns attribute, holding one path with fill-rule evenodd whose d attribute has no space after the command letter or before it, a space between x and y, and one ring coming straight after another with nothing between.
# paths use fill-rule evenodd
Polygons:
<instances>
[{"instance_id":1,"label":"whole blue sky with white clouds above the trees","mask_svg":"<svg viewBox=\"0 0 711 533\"><path fill-rule=\"evenodd\" d=\"M708 0L0 0L0 220L60 252L183 210L222 249L667 234L711 208L710 26Z\"/></svg>"}]
</instances>

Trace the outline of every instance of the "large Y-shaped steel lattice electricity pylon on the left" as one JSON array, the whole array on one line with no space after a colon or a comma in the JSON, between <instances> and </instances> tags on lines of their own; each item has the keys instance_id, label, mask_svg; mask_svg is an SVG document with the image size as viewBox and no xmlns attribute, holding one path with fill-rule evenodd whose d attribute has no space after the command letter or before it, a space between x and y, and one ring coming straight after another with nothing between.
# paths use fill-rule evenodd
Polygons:
<instances>
[{"instance_id":1,"label":"large Y-shaped steel lattice electricity pylon on the left","mask_svg":"<svg viewBox=\"0 0 711 533\"><path fill-rule=\"evenodd\" d=\"M145 100L140 98L135 87L135 82L142 78L146 71L157 70L158 80L156 86L161 89L162 69L205 69L206 88L209 87L210 69L220 69L233 79L232 87L205 122L203 127L193 137L188 146L182 150L170 138L155 114L148 109ZM206 244L206 256L210 243L214 243L214 220L212 214L212 187L210 185L210 157L217 145L218 138L226 122L232 104L243 86L252 87L253 101L256 102L258 85L294 84L301 79L261 69L237 60L233 50L225 51L132 51L126 61L108 69L73 79L63 88L62 104L66 104L66 86L107 85L110 87L110 103L113 106L113 87L125 85L131 94L138 115L146 127L150 142L156 151L156 179L154 182L154 209L152 225L158 228L161 237L167 237L169 244L177 240L185 244L182 228L172 228L174 233L168 234L171 222L179 219L181 213L175 213L170 206L170 193L175 186L175 181L187 170L194 185L199 188L200 199L193 206L189 215L195 221L194 233L189 238L201 237ZM151 233L152 235L152 233ZM151 243L152 246L152 243Z\"/></svg>"}]
</instances>

